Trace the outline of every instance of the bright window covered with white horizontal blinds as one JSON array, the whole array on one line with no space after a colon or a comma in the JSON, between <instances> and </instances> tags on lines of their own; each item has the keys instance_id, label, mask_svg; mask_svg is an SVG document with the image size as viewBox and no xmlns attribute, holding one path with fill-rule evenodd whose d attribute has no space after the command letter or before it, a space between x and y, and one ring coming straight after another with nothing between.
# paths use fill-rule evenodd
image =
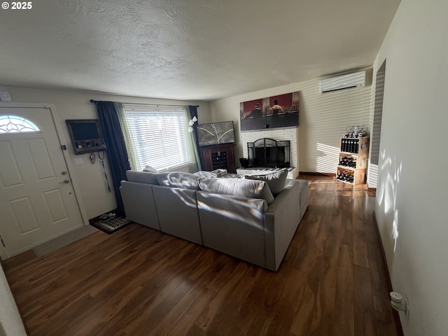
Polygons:
<instances>
[{"instance_id":1,"label":"bright window covered with white horizontal blinds","mask_svg":"<svg viewBox=\"0 0 448 336\"><path fill-rule=\"evenodd\" d=\"M150 165L158 170L188 165L186 111L136 111L125 108L137 170Z\"/></svg>"}]
</instances>

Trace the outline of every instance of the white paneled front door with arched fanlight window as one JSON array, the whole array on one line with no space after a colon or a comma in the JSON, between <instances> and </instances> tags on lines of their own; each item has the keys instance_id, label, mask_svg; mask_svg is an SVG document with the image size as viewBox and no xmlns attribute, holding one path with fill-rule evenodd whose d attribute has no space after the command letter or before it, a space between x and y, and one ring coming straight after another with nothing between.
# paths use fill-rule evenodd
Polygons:
<instances>
[{"instance_id":1,"label":"white paneled front door with arched fanlight window","mask_svg":"<svg viewBox=\"0 0 448 336\"><path fill-rule=\"evenodd\" d=\"M50 109L0 107L0 214L8 257L83 225Z\"/></svg>"}]
</instances>

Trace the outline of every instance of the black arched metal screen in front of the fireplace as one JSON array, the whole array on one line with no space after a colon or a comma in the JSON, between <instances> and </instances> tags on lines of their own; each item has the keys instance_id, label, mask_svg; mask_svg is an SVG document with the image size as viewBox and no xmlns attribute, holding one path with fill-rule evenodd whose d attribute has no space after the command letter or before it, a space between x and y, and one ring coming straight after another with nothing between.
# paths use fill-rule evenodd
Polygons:
<instances>
[{"instance_id":1,"label":"black arched metal screen in front of the fireplace","mask_svg":"<svg viewBox=\"0 0 448 336\"><path fill-rule=\"evenodd\" d=\"M290 167L290 141L262 138L247 143L251 167Z\"/></svg>"}]
</instances>

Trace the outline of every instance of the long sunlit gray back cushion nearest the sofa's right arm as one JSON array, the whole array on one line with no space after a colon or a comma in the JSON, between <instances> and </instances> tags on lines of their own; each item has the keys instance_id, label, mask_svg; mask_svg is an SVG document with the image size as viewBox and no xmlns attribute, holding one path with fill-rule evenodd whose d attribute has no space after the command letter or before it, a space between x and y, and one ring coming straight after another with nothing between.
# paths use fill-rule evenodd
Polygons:
<instances>
[{"instance_id":1,"label":"long sunlit gray back cushion nearest the sofa's right arm","mask_svg":"<svg viewBox=\"0 0 448 336\"><path fill-rule=\"evenodd\" d=\"M199 182L203 191L221 193L248 198L261 198L267 204L274 201L269 187L265 181L246 179L203 179Z\"/></svg>"}]
</instances>

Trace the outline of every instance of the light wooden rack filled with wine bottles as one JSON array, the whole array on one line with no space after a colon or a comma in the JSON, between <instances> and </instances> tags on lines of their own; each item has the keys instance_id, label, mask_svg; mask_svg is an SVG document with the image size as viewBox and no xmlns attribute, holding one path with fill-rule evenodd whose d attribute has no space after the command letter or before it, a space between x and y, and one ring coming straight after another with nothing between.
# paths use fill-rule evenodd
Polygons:
<instances>
[{"instance_id":1,"label":"light wooden rack filled with wine bottles","mask_svg":"<svg viewBox=\"0 0 448 336\"><path fill-rule=\"evenodd\" d=\"M342 138L336 179L351 185L365 183L369 138Z\"/></svg>"}]
</instances>

